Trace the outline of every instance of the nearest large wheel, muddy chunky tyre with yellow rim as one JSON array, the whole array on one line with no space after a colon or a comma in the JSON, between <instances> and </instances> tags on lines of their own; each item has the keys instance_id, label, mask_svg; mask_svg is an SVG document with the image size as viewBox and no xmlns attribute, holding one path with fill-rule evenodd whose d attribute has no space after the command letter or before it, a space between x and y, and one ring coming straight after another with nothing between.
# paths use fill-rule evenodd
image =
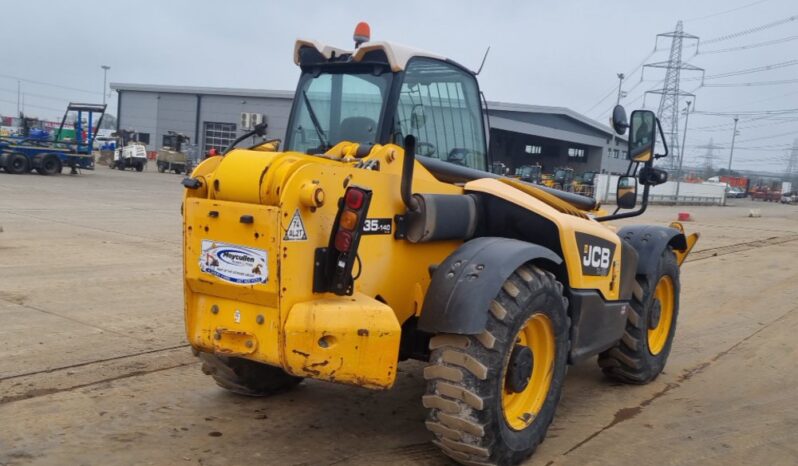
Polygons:
<instances>
[{"instance_id":1,"label":"nearest large wheel, muddy chunky tyre with yellow rim","mask_svg":"<svg viewBox=\"0 0 798 466\"><path fill-rule=\"evenodd\" d=\"M554 419L567 369L562 284L531 264L502 285L479 335L436 335L424 370L427 428L464 464L517 464Z\"/></svg>"}]
</instances>

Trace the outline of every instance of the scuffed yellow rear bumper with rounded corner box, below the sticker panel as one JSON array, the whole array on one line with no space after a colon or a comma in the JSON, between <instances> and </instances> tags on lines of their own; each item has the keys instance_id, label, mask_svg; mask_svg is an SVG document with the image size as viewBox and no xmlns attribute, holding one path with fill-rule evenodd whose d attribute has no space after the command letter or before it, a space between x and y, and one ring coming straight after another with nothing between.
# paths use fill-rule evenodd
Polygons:
<instances>
[{"instance_id":1,"label":"scuffed yellow rear bumper with rounded corner box, below the sticker panel","mask_svg":"<svg viewBox=\"0 0 798 466\"><path fill-rule=\"evenodd\" d=\"M282 329L277 309L194 298L202 311L192 319L188 335L200 351L372 389L390 388L396 378L401 326L393 309L368 296L298 303Z\"/></svg>"}]
</instances>

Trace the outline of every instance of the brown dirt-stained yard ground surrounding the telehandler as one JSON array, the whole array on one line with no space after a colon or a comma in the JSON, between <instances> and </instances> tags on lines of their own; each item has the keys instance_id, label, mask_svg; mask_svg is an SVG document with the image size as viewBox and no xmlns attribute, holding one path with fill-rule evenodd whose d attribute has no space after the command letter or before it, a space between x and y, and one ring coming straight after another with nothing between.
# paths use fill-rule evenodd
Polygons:
<instances>
[{"instance_id":1,"label":"brown dirt-stained yard ground surrounding the telehandler","mask_svg":"<svg viewBox=\"0 0 798 466\"><path fill-rule=\"evenodd\" d=\"M180 177L0 174L0 465L449 464L423 426L423 365L372 392L219 389L182 324ZM798 207L690 211L666 372L572 367L529 464L798 463ZM761 218L748 218L750 208Z\"/></svg>"}]
</instances>

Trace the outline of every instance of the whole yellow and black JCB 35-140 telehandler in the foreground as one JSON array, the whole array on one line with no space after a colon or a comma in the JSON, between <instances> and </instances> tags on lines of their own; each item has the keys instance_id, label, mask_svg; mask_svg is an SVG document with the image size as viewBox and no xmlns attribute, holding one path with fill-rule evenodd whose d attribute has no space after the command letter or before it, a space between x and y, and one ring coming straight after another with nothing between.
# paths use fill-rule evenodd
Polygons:
<instances>
[{"instance_id":1,"label":"whole yellow and black JCB 35-140 telehandler in the foreground","mask_svg":"<svg viewBox=\"0 0 798 466\"><path fill-rule=\"evenodd\" d=\"M597 355L643 384L668 359L697 234L604 223L643 213L666 180L659 123L616 108L632 160L608 215L489 173L475 73L367 36L361 23L354 50L297 41L281 151L234 148L183 181L188 340L246 395L304 377L388 389L399 361L428 361L421 402L443 453L516 464L543 440L569 364Z\"/></svg>"}]
</instances>

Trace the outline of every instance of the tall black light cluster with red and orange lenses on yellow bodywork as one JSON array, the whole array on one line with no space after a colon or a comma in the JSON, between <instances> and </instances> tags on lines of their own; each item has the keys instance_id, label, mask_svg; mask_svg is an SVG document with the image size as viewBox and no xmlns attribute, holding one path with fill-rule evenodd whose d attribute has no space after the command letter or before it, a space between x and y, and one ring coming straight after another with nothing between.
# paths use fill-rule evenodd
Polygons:
<instances>
[{"instance_id":1,"label":"tall black light cluster with red and orange lenses on yellow bodywork","mask_svg":"<svg viewBox=\"0 0 798 466\"><path fill-rule=\"evenodd\" d=\"M318 266L313 280L315 292L352 294L352 267L357 258L357 247L370 203L371 190L357 186L346 189L338 204L338 215L330 232L330 245L317 252Z\"/></svg>"}]
</instances>

